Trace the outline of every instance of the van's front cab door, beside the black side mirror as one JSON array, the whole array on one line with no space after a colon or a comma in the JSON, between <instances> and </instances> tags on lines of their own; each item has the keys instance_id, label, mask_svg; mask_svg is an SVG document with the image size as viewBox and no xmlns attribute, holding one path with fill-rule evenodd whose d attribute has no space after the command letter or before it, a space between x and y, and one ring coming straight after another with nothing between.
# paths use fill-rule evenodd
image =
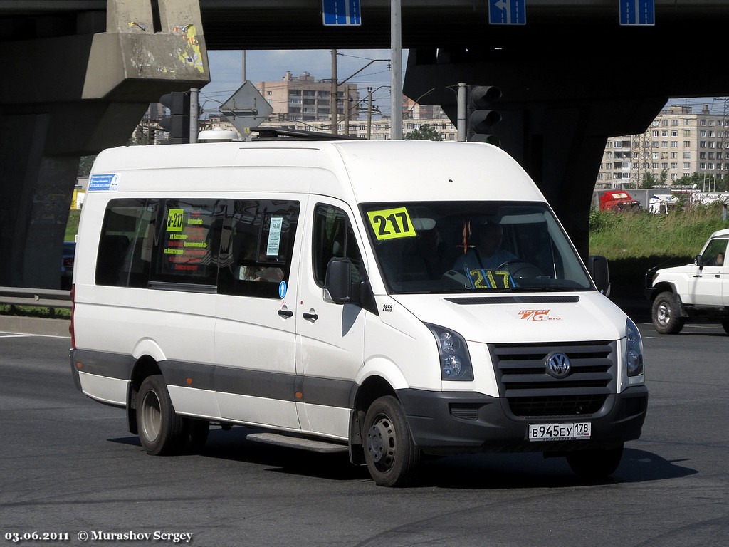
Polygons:
<instances>
[{"instance_id":1,"label":"van's front cab door, beside the black side mirror","mask_svg":"<svg viewBox=\"0 0 729 547\"><path fill-rule=\"evenodd\" d=\"M368 312L356 304L327 302L324 281L327 264L335 257L351 261L353 282L366 275L362 239L354 229L353 212L341 201L312 199L305 217L311 244L301 257L296 309L299 419L303 430L345 439Z\"/></svg>"}]
</instances>

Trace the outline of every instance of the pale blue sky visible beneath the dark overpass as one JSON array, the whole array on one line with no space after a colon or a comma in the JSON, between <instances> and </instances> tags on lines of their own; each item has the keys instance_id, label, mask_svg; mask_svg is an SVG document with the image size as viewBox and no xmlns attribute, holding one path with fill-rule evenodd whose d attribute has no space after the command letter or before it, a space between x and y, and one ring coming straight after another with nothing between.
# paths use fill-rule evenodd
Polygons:
<instances>
[{"instance_id":1,"label":"pale blue sky visible beneath the dark overpass","mask_svg":"<svg viewBox=\"0 0 729 547\"><path fill-rule=\"evenodd\" d=\"M252 83L276 82L284 77L286 71L299 76L307 71L316 79L332 78L331 50L247 50L246 79ZM384 115L389 115L390 104L390 70L389 63L374 59L389 59L390 50L338 50L337 79L342 82L355 83L359 87L359 96L367 96L367 87L375 89L373 106L379 106ZM238 88L243 85L243 52L231 50L208 51L211 81L200 89L199 103L202 114L217 111ZM402 50L402 71L408 61L408 51ZM364 68L366 66L366 68ZM360 69L363 69L358 73ZM349 79L352 74L356 76ZM379 89L377 89L379 88ZM682 104L693 107L698 112L704 104L709 105L713 114L724 113L724 98L694 97L673 98L668 104Z\"/></svg>"}]
</instances>

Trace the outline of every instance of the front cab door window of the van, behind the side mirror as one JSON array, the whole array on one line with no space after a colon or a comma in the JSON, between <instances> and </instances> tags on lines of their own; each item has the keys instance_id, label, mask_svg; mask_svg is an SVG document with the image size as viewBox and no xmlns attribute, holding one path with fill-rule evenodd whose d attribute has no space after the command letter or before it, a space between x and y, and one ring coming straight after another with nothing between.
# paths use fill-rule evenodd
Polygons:
<instances>
[{"instance_id":1,"label":"front cab door window of the van, behind the side mirror","mask_svg":"<svg viewBox=\"0 0 729 547\"><path fill-rule=\"evenodd\" d=\"M319 204L314 212L313 275L316 283L324 287L327 264L332 258L348 258L352 264L352 281L362 278L362 257L354 231L342 209Z\"/></svg>"}]
</instances>

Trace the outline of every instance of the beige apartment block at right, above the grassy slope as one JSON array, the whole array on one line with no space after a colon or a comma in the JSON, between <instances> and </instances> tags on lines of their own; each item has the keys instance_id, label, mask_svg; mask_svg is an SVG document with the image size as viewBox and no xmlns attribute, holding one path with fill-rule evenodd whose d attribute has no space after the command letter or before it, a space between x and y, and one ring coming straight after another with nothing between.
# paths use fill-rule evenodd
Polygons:
<instances>
[{"instance_id":1,"label":"beige apartment block at right, above the grassy slope","mask_svg":"<svg viewBox=\"0 0 729 547\"><path fill-rule=\"evenodd\" d=\"M725 109L726 111L726 109ZM669 105L639 135L607 140L595 190L638 188L647 177L671 185L684 176L729 174L729 117Z\"/></svg>"}]
</instances>

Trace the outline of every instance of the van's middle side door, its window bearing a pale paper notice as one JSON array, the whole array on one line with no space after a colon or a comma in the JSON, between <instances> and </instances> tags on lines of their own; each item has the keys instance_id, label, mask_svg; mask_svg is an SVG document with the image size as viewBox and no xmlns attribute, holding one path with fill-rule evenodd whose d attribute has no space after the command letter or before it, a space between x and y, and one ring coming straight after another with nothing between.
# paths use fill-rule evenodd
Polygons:
<instances>
[{"instance_id":1,"label":"van's middle side door, its window bearing a pale paper notice","mask_svg":"<svg viewBox=\"0 0 729 547\"><path fill-rule=\"evenodd\" d=\"M228 201L218 260L214 385L222 419L299 429L296 198Z\"/></svg>"}]
</instances>

